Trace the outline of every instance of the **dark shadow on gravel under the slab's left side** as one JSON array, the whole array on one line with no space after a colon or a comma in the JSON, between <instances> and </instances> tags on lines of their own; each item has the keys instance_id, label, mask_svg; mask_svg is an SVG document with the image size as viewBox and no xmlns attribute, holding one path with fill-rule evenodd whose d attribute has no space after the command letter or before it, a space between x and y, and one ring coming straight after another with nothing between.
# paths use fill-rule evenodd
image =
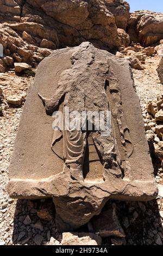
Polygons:
<instances>
[{"instance_id":1,"label":"dark shadow on gravel under the slab's left side","mask_svg":"<svg viewBox=\"0 0 163 256\"><path fill-rule=\"evenodd\" d=\"M12 242L15 245L45 245L51 237L58 240L60 234L55 227L54 212L52 199L18 200Z\"/></svg>"}]
</instances>

